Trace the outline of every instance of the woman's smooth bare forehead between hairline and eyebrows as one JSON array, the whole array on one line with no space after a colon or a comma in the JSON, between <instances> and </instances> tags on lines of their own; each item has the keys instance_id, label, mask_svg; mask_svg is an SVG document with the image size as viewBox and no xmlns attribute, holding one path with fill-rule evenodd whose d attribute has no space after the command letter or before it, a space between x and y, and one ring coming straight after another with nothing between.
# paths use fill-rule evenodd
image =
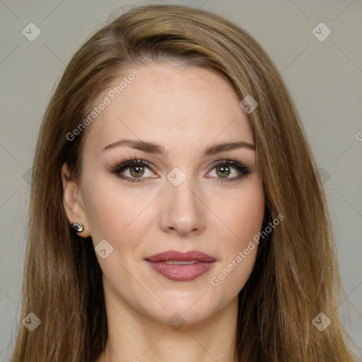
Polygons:
<instances>
[{"instance_id":1,"label":"woman's smooth bare forehead between hairline and eyebrows","mask_svg":"<svg viewBox=\"0 0 362 362\"><path fill-rule=\"evenodd\" d=\"M182 152L215 141L253 143L247 115L226 78L200 67L153 63L124 71L99 98L106 105L92 122L85 152L120 138L146 139ZM95 105L97 106L97 104Z\"/></svg>"}]
</instances>

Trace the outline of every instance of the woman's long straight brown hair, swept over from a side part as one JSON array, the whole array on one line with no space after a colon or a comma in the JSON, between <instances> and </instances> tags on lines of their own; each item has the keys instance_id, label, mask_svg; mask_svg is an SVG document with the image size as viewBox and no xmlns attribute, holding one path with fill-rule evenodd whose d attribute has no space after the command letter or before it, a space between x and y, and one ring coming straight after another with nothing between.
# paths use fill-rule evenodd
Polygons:
<instances>
[{"instance_id":1,"label":"woman's long straight brown hair, swept over from a side part","mask_svg":"<svg viewBox=\"0 0 362 362\"><path fill-rule=\"evenodd\" d=\"M67 134L95 100L122 71L153 61L214 69L240 100L252 95L259 104L248 116L266 198L264 226L279 214L284 220L259 244L239 293L238 361L354 361L339 320L325 192L279 71L245 30L176 5L137 6L110 21L76 52L52 95L33 164L21 315L35 313L41 324L30 332L19 322L12 361L93 362L105 348L102 271L91 237L70 231L60 170L66 162L81 173L91 125L71 141ZM322 332L313 325L321 312L332 321Z\"/></svg>"}]
</instances>

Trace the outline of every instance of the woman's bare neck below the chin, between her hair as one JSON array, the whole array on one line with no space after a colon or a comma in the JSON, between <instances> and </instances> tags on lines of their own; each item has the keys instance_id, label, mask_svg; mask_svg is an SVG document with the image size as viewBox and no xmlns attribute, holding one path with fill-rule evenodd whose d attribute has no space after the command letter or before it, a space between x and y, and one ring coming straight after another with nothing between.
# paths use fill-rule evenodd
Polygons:
<instances>
[{"instance_id":1,"label":"woman's bare neck below the chin, between her hair","mask_svg":"<svg viewBox=\"0 0 362 362\"><path fill-rule=\"evenodd\" d=\"M190 315L187 310L173 311L162 322L110 293L105 291L108 341L98 362L236 361L238 296L214 315L188 324L182 317Z\"/></svg>"}]
</instances>

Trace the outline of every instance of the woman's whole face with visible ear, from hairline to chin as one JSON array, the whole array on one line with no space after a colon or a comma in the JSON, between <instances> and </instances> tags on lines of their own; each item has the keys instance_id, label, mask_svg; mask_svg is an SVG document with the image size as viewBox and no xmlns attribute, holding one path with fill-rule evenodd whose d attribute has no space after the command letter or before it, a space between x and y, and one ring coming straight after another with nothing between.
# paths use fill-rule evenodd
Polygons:
<instances>
[{"instance_id":1,"label":"woman's whole face with visible ear, from hairline to chin","mask_svg":"<svg viewBox=\"0 0 362 362\"><path fill-rule=\"evenodd\" d=\"M78 185L64 179L66 210L71 222L84 224L80 235L100 243L95 250L108 305L159 322L174 313L200 322L235 302L255 264L257 247L243 250L264 217L256 152L216 147L254 145L252 128L220 75L163 63L138 70L114 100L109 92L122 79L110 86L110 104L88 126L81 179ZM134 158L146 164L112 173ZM226 159L232 162L222 165ZM194 254L184 258L187 264L173 264L182 257L172 251L210 259ZM161 252L158 262L151 258Z\"/></svg>"}]
</instances>

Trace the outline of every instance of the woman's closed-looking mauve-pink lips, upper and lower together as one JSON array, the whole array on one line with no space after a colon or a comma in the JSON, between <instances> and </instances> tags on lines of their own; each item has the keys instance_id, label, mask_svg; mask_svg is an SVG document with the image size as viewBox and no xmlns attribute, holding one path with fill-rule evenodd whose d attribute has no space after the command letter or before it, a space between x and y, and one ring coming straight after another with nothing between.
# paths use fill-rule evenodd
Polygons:
<instances>
[{"instance_id":1,"label":"woman's closed-looking mauve-pink lips, upper and lower together","mask_svg":"<svg viewBox=\"0 0 362 362\"><path fill-rule=\"evenodd\" d=\"M168 250L146 257L147 264L158 274L173 281L191 281L209 271L216 262L214 257L191 250L189 252L177 252ZM187 262L195 260L194 264L167 264L170 260Z\"/></svg>"}]
</instances>

